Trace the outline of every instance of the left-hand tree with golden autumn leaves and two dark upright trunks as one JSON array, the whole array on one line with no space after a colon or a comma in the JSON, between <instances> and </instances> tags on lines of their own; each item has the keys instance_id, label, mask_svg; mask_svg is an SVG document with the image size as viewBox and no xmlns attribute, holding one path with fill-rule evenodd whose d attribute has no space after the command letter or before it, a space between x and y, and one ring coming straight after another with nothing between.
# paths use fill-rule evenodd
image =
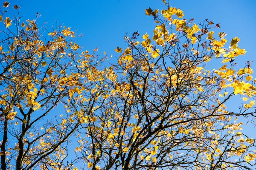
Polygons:
<instances>
[{"instance_id":1,"label":"left-hand tree with golden autumn leaves and two dark upright trunks","mask_svg":"<svg viewBox=\"0 0 256 170\"><path fill-rule=\"evenodd\" d=\"M0 11L1 20L12 9L8 6L4 3L7 10ZM19 10L17 5L14 8ZM90 87L84 81L94 75L88 71L100 61L96 50L79 54L70 28L51 31L44 25L39 28L37 19L22 22L21 18L6 17L6 31L1 32L1 169L54 169L64 164L67 144L81 122L74 121L67 106L63 118L47 115L61 103L81 98L81 91Z\"/></svg>"}]
</instances>

